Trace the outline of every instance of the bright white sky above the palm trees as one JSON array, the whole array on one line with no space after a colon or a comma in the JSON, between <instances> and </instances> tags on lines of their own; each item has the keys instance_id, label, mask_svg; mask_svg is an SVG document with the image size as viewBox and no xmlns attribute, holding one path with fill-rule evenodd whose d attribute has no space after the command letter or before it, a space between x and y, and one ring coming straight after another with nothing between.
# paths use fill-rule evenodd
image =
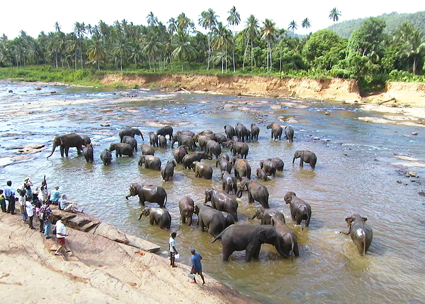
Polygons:
<instances>
[{"instance_id":1,"label":"bright white sky above the palm trees","mask_svg":"<svg viewBox=\"0 0 425 304\"><path fill-rule=\"evenodd\" d=\"M36 38L40 31L46 33L54 30L54 23L59 22L62 31L68 33L72 31L75 22L84 22L92 26L103 20L111 25L115 20L126 19L134 24L146 25L146 16L150 11L157 16L158 21L167 25L167 21L176 18L181 12L195 22L196 28L203 31L198 26L199 15L202 11L212 8L218 21L227 24L228 11L234 5L241 15L241 24L235 30L241 30L245 26L245 21L250 14L254 14L260 21L266 18L273 20L278 28L288 28L289 23L295 20L298 25L298 32L305 33L301 27L302 20L306 17L310 20L309 31L315 32L332 25L329 20L329 12L336 7L341 16L339 21L358 19L362 17L377 16L382 13L413 13L425 11L425 1L423 0L389 0L386 2L376 0L357 1L199 1L199 0L163 0L163 1L140 1L140 0L119 0L119 1L98 1L98 0L5 0L1 4L0 14L0 35L5 33L9 39L19 35L20 30L26 31ZM230 27L230 29L232 29Z\"/></svg>"}]
</instances>

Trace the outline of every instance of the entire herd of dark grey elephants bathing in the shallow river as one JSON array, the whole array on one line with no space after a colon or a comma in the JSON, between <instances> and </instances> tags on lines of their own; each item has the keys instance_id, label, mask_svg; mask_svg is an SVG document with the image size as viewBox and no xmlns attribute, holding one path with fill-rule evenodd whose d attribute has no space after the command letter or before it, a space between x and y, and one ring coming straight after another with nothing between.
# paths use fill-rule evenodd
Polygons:
<instances>
[{"instance_id":1,"label":"entire herd of dark grey elephants bathing in the shallow river","mask_svg":"<svg viewBox=\"0 0 425 304\"><path fill-rule=\"evenodd\" d=\"M277 123L270 123L267 129L271 129L271 139L281 140L284 132L285 137L292 142L294 131L292 127L282 128ZM177 164L182 164L182 169L189 169L195 172L195 177L211 179L213 167L202 162L202 159L216 158L216 168L219 168L222 181L222 189L216 190L208 188L205 190L205 201L195 204L189 196L184 196L178 202L181 223L191 225L193 214L198 218L198 225L201 231L208 231L214 237L212 243L221 240L223 244L223 260L228 260L234 251L246 251L245 260L258 258L261 244L268 243L274 245L276 251L284 257L299 255L297 234L285 223L283 214L269 207L269 192L265 182L269 176L275 176L276 171L283 171L284 163L280 158L267 158L260 161L260 167L256 169L256 180L251 180L251 165L247 160L249 146L246 141L258 140L260 129L251 124L251 129L247 129L242 123L236 123L235 128L226 124L225 134L214 133L211 130L204 130L197 134L192 131L177 131L173 135L173 128L166 126L158 129L156 133L150 132L150 146L142 144L140 146L142 155L138 165L146 169L160 171L165 182L172 180L174 169ZM112 161L112 151L116 151L116 157L127 155L132 157L133 152L137 152L137 141L135 135L143 134L135 128L126 128L119 132L120 142L110 144L109 149L104 149L100 158L104 165L109 165ZM173 150L174 159L162 166L161 159L155 156L153 147L167 149L167 139L171 141L171 147L175 142L178 147ZM60 146L61 156L68 156L70 147L76 147L77 153L84 155L88 163L94 162L94 151L90 139L87 136L80 136L76 133L56 136L53 140L53 148L50 157L57 146ZM84 146L84 149L82 148ZM199 151L194 151L195 149ZM232 153L229 157L222 152L222 148L228 148ZM304 163L315 168L317 156L307 150L295 151L292 163L300 158L300 167ZM231 174L233 169L234 175ZM239 180L239 181L238 181ZM242 198L243 192L248 193L248 204L257 202L261 205L250 219L260 219L260 225L237 224L238 202L235 198ZM235 195L235 196L234 196ZM131 184L129 194L125 196L128 200L131 196L139 196L139 203L144 206L139 220L142 216L150 218L150 224L158 224L160 228L170 229L172 217L165 208L167 204L167 192L161 186L149 184ZM304 227L308 227L311 220L311 207L309 204L289 191L284 197L285 203L289 204L291 219L296 224L304 222ZM157 203L159 207L146 207L145 202ZM210 203L210 205L208 205ZM372 229L365 224L366 219L358 214L346 219L349 234L359 253L364 255L372 242ZM341 231L342 232L342 231Z\"/></svg>"}]
</instances>

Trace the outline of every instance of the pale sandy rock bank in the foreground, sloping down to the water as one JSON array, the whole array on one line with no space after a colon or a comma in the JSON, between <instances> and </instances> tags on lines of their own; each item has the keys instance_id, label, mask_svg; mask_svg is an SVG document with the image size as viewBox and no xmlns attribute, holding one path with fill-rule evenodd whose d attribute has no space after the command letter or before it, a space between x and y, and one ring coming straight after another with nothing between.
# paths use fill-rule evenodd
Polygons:
<instances>
[{"instance_id":1,"label":"pale sandy rock bank in the foreground, sloping down to the water","mask_svg":"<svg viewBox=\"0 0 425 304\"><path fill-rule=\"evenodd\" d=\"M37 227L38 221L34 220ZM19 213L0 212L2 303L257 303L190 267L105 237L67 228L72 252L55 256L54 238L30 230Z\"/></svg>"}]
</instances>

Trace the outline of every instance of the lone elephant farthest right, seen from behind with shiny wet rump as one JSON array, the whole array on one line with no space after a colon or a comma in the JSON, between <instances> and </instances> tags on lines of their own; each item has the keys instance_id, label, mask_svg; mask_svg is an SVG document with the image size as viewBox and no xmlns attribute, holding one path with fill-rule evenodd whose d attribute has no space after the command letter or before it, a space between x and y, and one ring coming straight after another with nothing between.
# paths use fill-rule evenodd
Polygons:
<instances>
[{"instance_id":1,"label":"lone elephant farthest right, seen from behind with shiny wet rump","mask_svg":"<svg viewBox=\"0 0 425 304\"><path fill-rule=\"evenodd\" d=\"M349 218L346 218L348 232L340 231L343 234L350 235L354 244L357 246L359 254L364 256L372 244L373 231L372 228L365 222L366 218L362 218L359 214L353 214Z\"/></svg>"}]
</instances>

